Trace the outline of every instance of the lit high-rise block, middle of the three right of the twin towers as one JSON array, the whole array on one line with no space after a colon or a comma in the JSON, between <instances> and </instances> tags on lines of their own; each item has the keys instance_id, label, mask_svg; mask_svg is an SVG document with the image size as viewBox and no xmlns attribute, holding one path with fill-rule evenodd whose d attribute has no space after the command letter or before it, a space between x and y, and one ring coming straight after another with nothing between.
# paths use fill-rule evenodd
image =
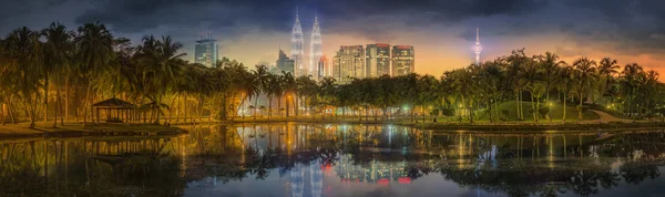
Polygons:
<instances>
[{"instance_id":1,"label":"lit high-rise block, middle of the three right of the twin towers","mask_svg":"<svg viewBox=\"0 0 665 197\"><path fill-rule=\"evenodd\" d=\"M390 75L390 45L383 43L367 44L366 50L366 77Z\"/></svg>"}]
</instances>

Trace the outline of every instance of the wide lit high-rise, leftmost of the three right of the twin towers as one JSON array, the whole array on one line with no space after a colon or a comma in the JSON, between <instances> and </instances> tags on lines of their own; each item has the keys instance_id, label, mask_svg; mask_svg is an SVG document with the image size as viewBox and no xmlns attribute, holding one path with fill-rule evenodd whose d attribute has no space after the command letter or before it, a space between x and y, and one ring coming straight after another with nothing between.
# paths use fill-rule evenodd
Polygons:
<instances>
[{"instance_id":1,"label":"wide lit high-rise, leftmost of the three right of the twin towers","mask_svg":"<svg viewBox=\"0 0 665 197\"><path fill-rule=\"evenodd\" d=\"M349 77L365 77L365 48L362 45L342 45L332 59L332 77L339 83L349 83Z\"/></svg>"}]
</instances>

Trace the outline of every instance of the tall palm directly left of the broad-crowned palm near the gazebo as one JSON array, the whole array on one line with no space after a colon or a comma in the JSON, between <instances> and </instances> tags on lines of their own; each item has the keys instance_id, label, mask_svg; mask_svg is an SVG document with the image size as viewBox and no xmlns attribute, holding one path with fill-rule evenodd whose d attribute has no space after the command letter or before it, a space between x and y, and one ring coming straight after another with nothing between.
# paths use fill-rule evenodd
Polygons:
<instances>
[{"instance_id":1,"label":"tall palm directly left of the broad-crowned palm near the gazebo","mask_svg":"<svg viewBox=\"0 0 665 197\"><path fill-rule=\"evenodd\" d=\"M42 30L42 34L47 39L44 43L44 56L45 64L44 66L44 110L48 107L48 98L49 98L49 74L54 72L55 83L57 83L57 106L60 105L60 111L62 111L61 104L61 79L60 75L63 71L69 70L69 61L71 59L70 54L72 52L72 43L71 43L71 34L66 31L66 28L61 23L51 23L51 25L44 30ZM55 114L53 117L53 127L58 124L58 108L54 110ZM61 114L61 116L63 116ZM64 125L63 118L60 120L60 124Z\"/></svg>"}]
</instances>

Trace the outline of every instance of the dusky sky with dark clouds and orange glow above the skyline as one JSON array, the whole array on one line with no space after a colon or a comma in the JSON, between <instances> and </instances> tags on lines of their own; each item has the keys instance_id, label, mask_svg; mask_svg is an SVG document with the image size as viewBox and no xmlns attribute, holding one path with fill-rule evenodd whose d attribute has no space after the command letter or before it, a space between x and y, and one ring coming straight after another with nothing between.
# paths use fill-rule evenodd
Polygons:
<instances>
[{"instance_id":1,"label":"dusky sky with dark clouds and orange glow above the skyline","mask_svg":"<svg viewBox=\"0 0 665 197\"><path fill-rule=\"evenodd\" d=\"M524 48L571 63L608 56L665 73L663 0L0 0L0 35L53 21L70 30L100 21L133 43L171 35L193 61L194 41L212 32L221 56L253 68L274 64L280 48L290 53L296 8L305 54L317 14L328 56L340 45L413 45L421 74L472 63L475 28L481 61Z\"/></svg>"}]
</instances>

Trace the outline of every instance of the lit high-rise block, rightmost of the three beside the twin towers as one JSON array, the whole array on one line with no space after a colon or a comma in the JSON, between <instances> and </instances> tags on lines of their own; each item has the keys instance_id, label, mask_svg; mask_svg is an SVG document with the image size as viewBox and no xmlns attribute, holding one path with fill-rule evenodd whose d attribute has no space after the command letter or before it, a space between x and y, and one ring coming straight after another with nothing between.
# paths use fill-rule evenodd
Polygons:
<instances>
[{"instance_id":1,"label":"lit high-rise block, rightmost of the three beside the twin towers","mask_svg":"<svg viewBox=\"0 0 665 197\"><path fill-rule=\"evenodd\" d=\"M416 72L416 56L412 45L392 46L392 75L407 75Z\"/></svg>"}]
</instances>

